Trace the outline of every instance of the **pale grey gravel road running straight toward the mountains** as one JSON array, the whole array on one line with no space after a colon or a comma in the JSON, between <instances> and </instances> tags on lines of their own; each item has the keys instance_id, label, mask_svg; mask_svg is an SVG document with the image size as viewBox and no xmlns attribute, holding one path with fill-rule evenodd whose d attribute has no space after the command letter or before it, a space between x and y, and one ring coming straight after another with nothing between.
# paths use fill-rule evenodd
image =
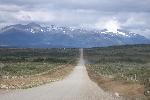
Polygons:
<instances>
[{"instance_id":1,"label":"pale grey gravel road running straight toward the mountains","mask_svg":"<svg viewBox=\"0 0 150 100\"><path fill-rule=\"evenodd\" d=\"M121 100L104 92L87 74L83 50L78 65L62 81L24 90L0 92L0 100Z\"/></svg>"}]
</instances>

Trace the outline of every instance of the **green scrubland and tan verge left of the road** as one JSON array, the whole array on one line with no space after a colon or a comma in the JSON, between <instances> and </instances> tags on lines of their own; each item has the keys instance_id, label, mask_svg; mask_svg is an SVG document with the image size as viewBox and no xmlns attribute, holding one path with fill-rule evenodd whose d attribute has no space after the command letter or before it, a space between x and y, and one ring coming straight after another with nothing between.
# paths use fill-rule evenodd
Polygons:
<instances>
[{"instance_id":1,"label":"green scrubland and tan verge left of the road","mask_svg":"<svg viewBox=\"0 0 150 100\"><path fill-rule=\"evenodd\" d=\"M0 49L0 87L28 88L66 76L78 49Z\"/></svg>"}]
</instances>

